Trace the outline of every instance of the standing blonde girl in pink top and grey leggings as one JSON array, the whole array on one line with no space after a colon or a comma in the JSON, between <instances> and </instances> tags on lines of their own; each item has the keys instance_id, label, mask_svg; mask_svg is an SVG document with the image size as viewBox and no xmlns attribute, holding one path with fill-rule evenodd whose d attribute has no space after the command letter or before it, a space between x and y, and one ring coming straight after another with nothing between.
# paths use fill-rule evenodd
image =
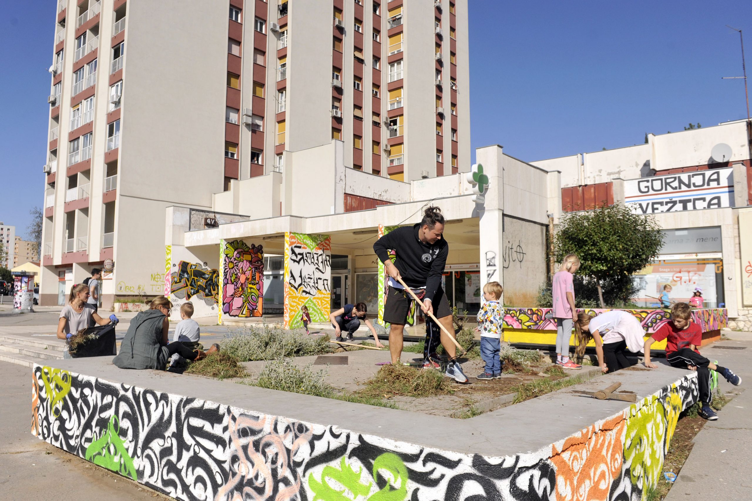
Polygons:
<instances>
[{"instance_id":1,"label":"standing blonde girl in pink top and grey leggings","mask_svg":"<svg viewBox=\"0 0 752 501\"><path fill-rule=\"evenodd\" d=\"M572 336L572 323L577 320L572 276L579 268L580 259L577 254L567 254L559 272L553 275L551 287L553 319L556 320L556 365L566 369L582 369L582 366L569 360L569 338Z\"/></svg>"}]
</instances>

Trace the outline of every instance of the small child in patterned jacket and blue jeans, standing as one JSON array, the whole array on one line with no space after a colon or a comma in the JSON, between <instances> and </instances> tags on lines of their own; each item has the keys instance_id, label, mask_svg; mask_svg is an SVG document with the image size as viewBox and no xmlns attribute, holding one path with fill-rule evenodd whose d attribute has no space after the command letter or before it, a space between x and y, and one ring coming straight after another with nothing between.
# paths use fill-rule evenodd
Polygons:
<instances>
[{"instance_id":1,"label":"small child in patterned jacket and blue jeans, standing","mask_svg":"<svg viewBox=\"0 0 752 501\"><path fill-rule=\"evenodd\" d=\"M499 282L488 282L483 286L483 299L486 301L478 311L478 328L481 332L481 358L486 363L483 374L476 379L496 379L502 377L502 361L499 355L502 348L502 285Z\"/></svg>"}]
</instances>

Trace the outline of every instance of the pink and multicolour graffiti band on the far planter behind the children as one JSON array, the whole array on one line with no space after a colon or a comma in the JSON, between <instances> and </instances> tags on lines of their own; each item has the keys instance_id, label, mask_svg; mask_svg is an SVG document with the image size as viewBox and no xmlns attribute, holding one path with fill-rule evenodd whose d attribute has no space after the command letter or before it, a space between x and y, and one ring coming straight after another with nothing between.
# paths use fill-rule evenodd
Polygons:
<instances>
[{"instance_id":1,"label":"pink and multicolour graffiti band on the far planter behind the children","mask_svg":"<svg viewBox=\"0 0 752 501\"><path fill-rule=\"evenodd\" d=\"M610 309L579 308L595 317L596 315L611 311ZM667 310L625 310L633 314L642 328L648 333L656 332L664 323L671 320L671 312ZM556 321L550 316L551 308L504 308L505 329L535 329L556 330ZM702 310L693 309L692 320L698 323L702 332L723 329L728 321L728 313L725 308L708 308Z\"/></svg>"}]
</instances>

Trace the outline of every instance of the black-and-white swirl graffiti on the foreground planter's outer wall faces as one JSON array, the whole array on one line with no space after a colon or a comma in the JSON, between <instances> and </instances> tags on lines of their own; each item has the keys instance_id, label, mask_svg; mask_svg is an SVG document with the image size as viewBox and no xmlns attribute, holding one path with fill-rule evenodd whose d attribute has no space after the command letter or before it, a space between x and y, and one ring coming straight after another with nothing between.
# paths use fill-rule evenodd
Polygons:
<instances>
[{"instance_id":1,"label":"black-and-white swirl graffiti on the foreground planter's outer wall faces","mask_svg":"<svg viewBox=\"0 0 752 501\"><path fill-rule=\"evenodd\" d=\"M655 486L697 396L696 373L683 375L538 451L485 457L35 365L31 428L177 499L626 500Z\"/></svg>"}]
</instances>

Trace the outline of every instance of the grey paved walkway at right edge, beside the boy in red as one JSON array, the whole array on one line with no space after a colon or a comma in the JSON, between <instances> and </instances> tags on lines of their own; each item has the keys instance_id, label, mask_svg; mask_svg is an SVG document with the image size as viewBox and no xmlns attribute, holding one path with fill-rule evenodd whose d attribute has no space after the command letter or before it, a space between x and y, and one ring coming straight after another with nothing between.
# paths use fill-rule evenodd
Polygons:
<instances>
[{"instance_id":1,"label":"grey paved walkway at right edge, beside the boy in red","mask_svg":"<svg viewBox=\"0 0 752 501\"><path fill-rule=\"evenodd\" d=\"M723 392L741 394L718 412L718 421L708 421L697 434L667 501L752 499L752 336L746 332L723 333L730 340L713 345L718 348L703 348L702 354L741 376L739 387L718 378Z\"/></svg>"}]
</instances>

